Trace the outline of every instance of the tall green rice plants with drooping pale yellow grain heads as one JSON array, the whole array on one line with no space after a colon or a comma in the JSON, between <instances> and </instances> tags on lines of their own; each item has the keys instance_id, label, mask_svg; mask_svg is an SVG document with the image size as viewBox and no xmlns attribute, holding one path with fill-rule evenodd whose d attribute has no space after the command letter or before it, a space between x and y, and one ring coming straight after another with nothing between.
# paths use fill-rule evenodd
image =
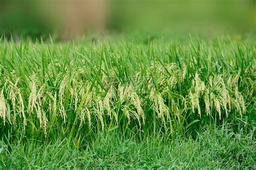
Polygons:
<instances>
[{"instance_id":1,"label":"tall green rice plants with drooping pale yellow grain heads","mask_svg":"<svg viewBox=\"0 0 256 170\"><path fill-rule=\"evenodd\" d=\"M16 44L3 38L0 134L66 137L79 145L96 132L141 138L160 131L172 138L218 125L251 111L255 52L253 43L222 40Z\"/></svg>"}]
</instances>

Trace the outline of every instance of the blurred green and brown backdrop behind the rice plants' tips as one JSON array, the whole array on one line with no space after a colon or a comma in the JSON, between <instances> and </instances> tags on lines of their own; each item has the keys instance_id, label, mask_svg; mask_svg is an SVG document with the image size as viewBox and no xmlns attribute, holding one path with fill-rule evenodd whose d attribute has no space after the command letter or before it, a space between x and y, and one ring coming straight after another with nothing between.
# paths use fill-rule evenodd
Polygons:
<instances>
[{"instance_id":1,"label":"blurred green and brown backdrop behind the rice plants' tips","mask_svg":"<svg viewBox=\"0 0 256 170\"><path fill-rule=\"evenodd\" d=\"M0 0L0 35L256 32L255 0Z\"/></svg>"}]
</instances>

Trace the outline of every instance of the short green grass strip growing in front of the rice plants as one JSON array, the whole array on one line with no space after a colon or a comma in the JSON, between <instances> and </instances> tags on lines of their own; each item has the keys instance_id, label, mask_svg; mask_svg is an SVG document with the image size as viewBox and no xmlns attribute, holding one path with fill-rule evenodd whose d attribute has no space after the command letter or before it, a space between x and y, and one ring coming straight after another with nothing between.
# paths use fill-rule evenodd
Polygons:
<instances>
[{"instance_id":1,"label":"short green grass strip growing in front of the rice plants","mask_svg":"<svg viewBox=\"0 0 256 170\"><path fill-rule=\"evenodd\" d=\"M79 148L67 139L44 145L2 142L0 168L255 168L253 133L207 128L194 139L177 135L168 142L160 135L138 142L108 133Z\"/></svg>"}]
</instances>

